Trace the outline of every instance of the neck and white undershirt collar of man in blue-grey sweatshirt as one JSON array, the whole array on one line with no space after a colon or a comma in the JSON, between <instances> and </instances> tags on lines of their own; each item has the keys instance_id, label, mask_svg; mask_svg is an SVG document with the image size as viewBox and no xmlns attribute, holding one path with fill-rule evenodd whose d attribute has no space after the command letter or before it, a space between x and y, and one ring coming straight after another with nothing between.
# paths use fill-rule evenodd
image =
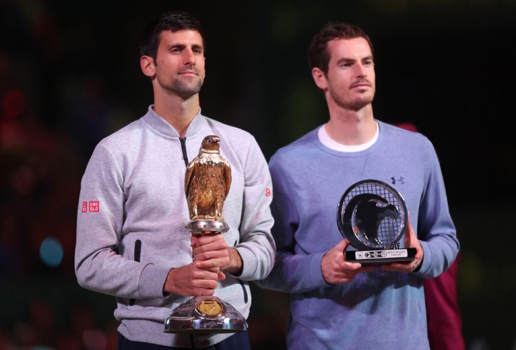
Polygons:
<instances>
[{"instance_id":1,"label":"neck and white undershirt collar of man in blue-grey sweatshirt","mask_svg":"<svg viewBox=\"0 0 516 350\"><path fill-rule=\"evenodd\" d=\"M373 107L366 105L358 111L330 108L330 120L325 125L326 132L339 144L356 146L374 138L376 122Z\"/></svg>"}]
</instances>

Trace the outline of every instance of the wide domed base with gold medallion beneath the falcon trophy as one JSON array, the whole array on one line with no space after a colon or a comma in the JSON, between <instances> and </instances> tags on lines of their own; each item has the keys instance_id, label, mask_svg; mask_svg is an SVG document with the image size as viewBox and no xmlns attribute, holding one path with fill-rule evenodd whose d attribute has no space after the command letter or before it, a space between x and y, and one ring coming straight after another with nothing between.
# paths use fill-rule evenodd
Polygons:
<instances>
[{"instance_id":1,"label":"wide domed base with gold medallion beneath the falcon trophy","mask_svg":"<svg viewBox=\"0 0 516 350\"><path fill-rule=\"evenodd\" d=\"M237 333L247 321L235 307L216 296L194 296L176 307L165 320L164 333Z\"/></svg>"}]
</instances>

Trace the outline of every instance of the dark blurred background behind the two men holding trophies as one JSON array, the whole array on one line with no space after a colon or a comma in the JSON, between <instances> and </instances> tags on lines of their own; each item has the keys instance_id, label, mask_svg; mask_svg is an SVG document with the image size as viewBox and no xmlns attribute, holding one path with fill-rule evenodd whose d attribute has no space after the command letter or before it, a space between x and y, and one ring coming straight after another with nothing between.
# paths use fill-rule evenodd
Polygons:
<instances>
[{"instance_id":1,"label":"dark blurred background behind the two men holding trophies","mask_svg":"<svg viewBox=\"0 0 516 350\"><path fill-rule=\"evenodd\" d=\"M516 349L512 0L0 0L0 349L116 349L114 297L74 276L80 177L152 102L138 36L171 9L204 25L203 113L250 131L267 158L328 118L312 36L330 20L363 28L375 117L416 124L440 157L466 347ZM253 348L283 348L288 296L253 292Z\"/></svg>"}]
</instances>

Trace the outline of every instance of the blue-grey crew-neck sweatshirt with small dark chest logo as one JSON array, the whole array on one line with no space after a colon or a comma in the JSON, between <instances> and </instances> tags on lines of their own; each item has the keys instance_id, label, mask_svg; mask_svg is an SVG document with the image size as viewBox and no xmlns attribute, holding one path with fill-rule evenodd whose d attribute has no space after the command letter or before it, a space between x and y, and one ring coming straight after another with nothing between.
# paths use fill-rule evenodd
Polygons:
<instances>
[{"instance_id":1,"label":"blue-grey crew-neck sweatshirt with small dark chest logo","mask_svg":"<svg viewBox=\"0 0 516 350\"><path fill-rule=\"evenodd\" d=\"M289 349L429 349L421 278L447 269L459 243L431 142L420 133L378 125L378 140L363 151L329 149L316 129L269 162L277 256L258 284L291 294ZM321 260L343 239L337 206L347 188L364 179L390 184L404 197L424 260L418 272L376 268L351 283L329 285Z\"/></svg>"}]
</instances>

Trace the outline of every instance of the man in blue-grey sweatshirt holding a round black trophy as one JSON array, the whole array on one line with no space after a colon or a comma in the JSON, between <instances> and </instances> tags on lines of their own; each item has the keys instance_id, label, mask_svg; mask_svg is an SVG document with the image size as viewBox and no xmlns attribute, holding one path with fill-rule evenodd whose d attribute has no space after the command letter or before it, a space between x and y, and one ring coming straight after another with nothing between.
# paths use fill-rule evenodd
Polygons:
<instances>
[{"instance_id":1,"label":"man in blue-grey sweatshirt holding a round black trophy","mask_svg":"<svg viewBox=\"0 0 516 350\"><path fill-rule=\"evenodd\" d=\"M277 254L259 285L291 294L289 349L427 350L422 278L441 274L459 250L436 151L424 135L374 118L373 47L363 30L329 24L308 56L330 118L270 159ZM416 249L412 261L346 261L353 248L336 208L365 179L404 197L409 220L400 244Z\"/></svg>"}]
</instances>

